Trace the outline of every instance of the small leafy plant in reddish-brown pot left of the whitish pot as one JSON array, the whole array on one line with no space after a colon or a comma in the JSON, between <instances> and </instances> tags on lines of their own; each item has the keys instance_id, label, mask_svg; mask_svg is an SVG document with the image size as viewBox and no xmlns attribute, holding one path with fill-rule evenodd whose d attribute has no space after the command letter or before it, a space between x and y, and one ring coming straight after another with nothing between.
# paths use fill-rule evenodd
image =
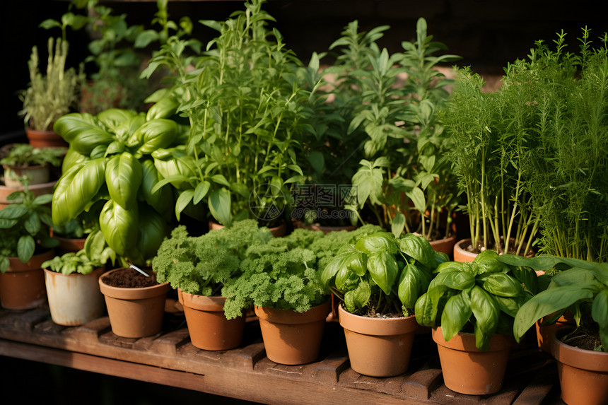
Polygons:
<instances>
[{"instance_id":1,"label":"small leafy plant in reddish-brown pot left of the whitish pot","mask_svg":"<svg viewBox=\"0 0 608 405\"><path fill-rule=\"evenodd\" d=\"M51 194L35 196L27 182L23 191L9 199L20 199L0 211L0 303L9 310L26 310L46 300L42 262L54 256L57 240L49 236L52 224L46 206Z\"/></svg>"}]
</instances>

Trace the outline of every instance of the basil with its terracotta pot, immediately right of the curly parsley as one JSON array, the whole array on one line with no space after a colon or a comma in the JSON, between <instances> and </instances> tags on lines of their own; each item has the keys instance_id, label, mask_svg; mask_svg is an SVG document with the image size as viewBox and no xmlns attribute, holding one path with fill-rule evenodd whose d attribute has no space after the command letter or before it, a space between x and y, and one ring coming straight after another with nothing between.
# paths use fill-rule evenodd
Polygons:
<instances>
[{"instance_id":1,"label":"basil with its terracotta pot, immediately right of the curly parsley","mask_svg":"<svg viewBox=\"0 0 608 405\"><path fill-rule=\"evenodd\" d=\"M414 305L447 255L424 237L392 233L354 237L322 272L322 281L341 300L351 367L373 377L407 370L419 329Z\"/></svg>"}]
</instances>

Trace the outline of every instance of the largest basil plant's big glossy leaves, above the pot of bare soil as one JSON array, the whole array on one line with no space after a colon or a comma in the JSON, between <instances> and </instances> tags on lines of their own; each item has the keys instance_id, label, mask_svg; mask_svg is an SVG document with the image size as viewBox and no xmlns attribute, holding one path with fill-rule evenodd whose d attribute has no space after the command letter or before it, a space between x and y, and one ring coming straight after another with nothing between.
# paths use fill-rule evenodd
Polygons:
<instances>
[{"instance_id":1,"label":"largest basil plant's big glossy leaves, above the pot of bare soil","mask_svg":"<svg viewBox=\"0 0 608 405\"><path fill-rule=\"evenodd\" d=\"M175 109L158 103L144 113L110 109L57 119L68 143L52 199L52 220L64 225L83 211L99 211L100 230L119 258L145 264L156 255L173 218L170 187L160 180L152 153L180 142Z\"/></svg>"}]
</instances>

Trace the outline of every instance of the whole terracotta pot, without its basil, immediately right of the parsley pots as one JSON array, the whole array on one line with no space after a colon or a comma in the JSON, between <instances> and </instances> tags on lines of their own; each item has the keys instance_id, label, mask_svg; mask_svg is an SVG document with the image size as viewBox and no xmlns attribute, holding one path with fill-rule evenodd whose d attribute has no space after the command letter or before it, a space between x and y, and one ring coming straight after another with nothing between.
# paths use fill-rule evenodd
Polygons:
<instances>
[{"instance_id":1,"label":"whole terracotta pot, without its basil, immediately right of the parsley pots","mask_svg":"<svg viewBox=\"0 0 608 405\"><path fill-rule=\"evenodd\" d=\"M416 317L361 317L346 312L341 305L338 313L353 370L371 377L392 377L406 372L414 336L419 330Z\"/></svg>"}]
</instances>

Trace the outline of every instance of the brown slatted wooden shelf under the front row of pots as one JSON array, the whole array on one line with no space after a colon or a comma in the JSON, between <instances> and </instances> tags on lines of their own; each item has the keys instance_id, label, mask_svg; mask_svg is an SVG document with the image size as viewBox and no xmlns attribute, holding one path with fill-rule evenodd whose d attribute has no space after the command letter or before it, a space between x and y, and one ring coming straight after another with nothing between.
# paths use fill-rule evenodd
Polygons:
<instances>
[{"instance_id":1,"label":"brown slatted wooden shelf under the front row of pots","mask_svg":"<svg viewBox=\"0 0 608 405\"><path fill-rule=\"evenodd\" d=\"M168 301L168 307L173 303ZM48 307L0 310L0 356L192 389L264 404L563 404L554 360L522 344L510 356L501 392L457 394L443 385L430 334L416 336L409 369L366 377L349 366L344 332L327 324L319 360L300 366L266 357L255 317L230 351L192 346L182 312L165 312L163 332L143 339L116 336L107 317L81 327L54 324Z\"/></svg>"}]
</instances>

